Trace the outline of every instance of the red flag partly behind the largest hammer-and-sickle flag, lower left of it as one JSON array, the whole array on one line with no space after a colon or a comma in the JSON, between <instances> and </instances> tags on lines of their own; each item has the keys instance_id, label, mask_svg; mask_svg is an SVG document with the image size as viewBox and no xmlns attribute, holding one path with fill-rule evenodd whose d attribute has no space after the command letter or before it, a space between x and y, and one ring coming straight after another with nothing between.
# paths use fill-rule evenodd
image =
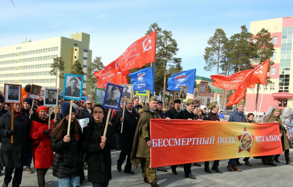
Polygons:
<instances>
[{"instance_id":1,"label":"red flag partly behind the largest hammer-and-sickle flag, lower left of it","mask_svg":"<svg viewBox=\"0 0 293 187\"><path fill-rule=\"evenodd\" d=\"M127 77L126 75L129 74L129 71L125 72L125 76L122 76L121 72L116 70L117 67L117 60L114 60L106 67L104 67L101 71L96 71L95 77L98 78L97 87L106 89L107 83L112 83L119 85L120 83L127 84Z\"/></svg>"}]
</instances>

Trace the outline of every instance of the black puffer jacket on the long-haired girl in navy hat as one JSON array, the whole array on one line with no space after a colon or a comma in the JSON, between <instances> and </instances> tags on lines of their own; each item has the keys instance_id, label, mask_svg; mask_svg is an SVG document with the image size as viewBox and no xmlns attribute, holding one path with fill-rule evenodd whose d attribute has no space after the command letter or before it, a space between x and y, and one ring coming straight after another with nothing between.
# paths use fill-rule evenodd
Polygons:
<instances>
[{"instance_id":1,"label":"black puffer jacket on the long-haired girl in navy hat","mask_svg":"<svg viewBox=\"0 0 293 187\"><path fill-rule=\"evenodd\" d=\"M74 122L78 123L76 120ZM64 120L66 130L61 140L51 137L51 149L55 152L53 175L57 178L71 178L80 176L82 152L82 132L79 127L79 137L75 134L74 125L71 123L69 131L70 141L65 143L64 136L67 134L67 121ZM76 138L77 137L77 138Z\"/></svg>"}]
</instances>

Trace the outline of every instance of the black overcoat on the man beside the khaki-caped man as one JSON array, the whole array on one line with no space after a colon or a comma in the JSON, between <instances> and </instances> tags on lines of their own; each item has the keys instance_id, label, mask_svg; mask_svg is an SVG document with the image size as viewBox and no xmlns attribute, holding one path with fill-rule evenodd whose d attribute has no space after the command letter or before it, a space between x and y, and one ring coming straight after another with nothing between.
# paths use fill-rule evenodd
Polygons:
<instances>
[{"instance_id":1,"label":"black overcoat on the man beside the khaki-caped man","mask_svg":"<svg viewBox=\"0 0 293 187\"><path fill-rule=\"evenodd\" d=\"M120 129L121 129L120 119L122 117L122 114L123 114L123 111L118 112L116 122L115 122L115 126L120 127ZM125 109L123 129L122 129L122 133L120 133L120 141L119 141L120 149L132 150L132 144L133 144L138 120L139 120L139 115L138 113L135 112L135 110L132 110L132 115L130 115L129 111Z\"/></svg>"}]
</instances>

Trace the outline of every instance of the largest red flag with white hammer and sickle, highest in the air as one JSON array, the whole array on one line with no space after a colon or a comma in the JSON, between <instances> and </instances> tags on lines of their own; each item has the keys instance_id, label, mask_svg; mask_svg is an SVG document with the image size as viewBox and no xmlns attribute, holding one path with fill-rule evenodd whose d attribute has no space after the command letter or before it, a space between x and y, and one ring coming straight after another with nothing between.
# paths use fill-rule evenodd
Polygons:
<instances>
[{"instance_id":1,"label":"largest red flag with white hammer and sickle, highest in the air","mask_svg":"<svg viewBox=\"0 0 293 187\"><path fill-rule=\"evenodd\" d=\"M132 43L118 57L117 71L128 75L130 69L143 67L147 63L155 62L156 58L156 33L154 32L138 39Z\"/></svg>"}]
</instances>

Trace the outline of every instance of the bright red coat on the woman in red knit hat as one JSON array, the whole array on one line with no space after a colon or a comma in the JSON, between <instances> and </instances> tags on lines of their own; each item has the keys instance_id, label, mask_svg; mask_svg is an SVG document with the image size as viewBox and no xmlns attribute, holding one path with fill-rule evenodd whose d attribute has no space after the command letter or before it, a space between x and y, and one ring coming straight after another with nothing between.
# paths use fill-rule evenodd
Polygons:
<instances>
[{"instance_id":1,"label":"bright red coat on the woman in red knit hat","mask_svg":"<svg viewBox=\"0 0 293 187\"><path fill-rule=\"evenodd\" d=\"M54 121L51 120L50 129L53 130ZM30 137L33 139L33 161L37 169L50 168L53 166L54 153L50 148L51 139L43 133L48 129L48 119L46 121L36 118L32 121ZM51 131L52 133L52 131Z\"/></svg>"}]
</instances>

